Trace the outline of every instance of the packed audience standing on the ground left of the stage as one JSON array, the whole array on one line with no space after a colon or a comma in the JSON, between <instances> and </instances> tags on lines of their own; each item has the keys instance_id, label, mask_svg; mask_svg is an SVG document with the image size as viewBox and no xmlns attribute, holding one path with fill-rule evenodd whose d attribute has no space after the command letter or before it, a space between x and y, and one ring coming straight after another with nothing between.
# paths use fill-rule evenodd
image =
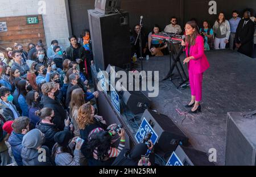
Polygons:
<instances>
[{"instance_id":1,"label":"packed audience standing on the ground left of the stage","mask_svg":"<svg viewBox=\"0 0 256 177\"><path fill-rule=\"evenodd\" d=\"M125 130L97 115L89 31L69 41L66 50L57 40L48 49L41 40L27 51L16 43L6 49L0 65L1 165L112 165L127 152ZM114 164L125 158L138 165L152 144L134 148L133 156Z\"/></svg>"}]
</instances>

